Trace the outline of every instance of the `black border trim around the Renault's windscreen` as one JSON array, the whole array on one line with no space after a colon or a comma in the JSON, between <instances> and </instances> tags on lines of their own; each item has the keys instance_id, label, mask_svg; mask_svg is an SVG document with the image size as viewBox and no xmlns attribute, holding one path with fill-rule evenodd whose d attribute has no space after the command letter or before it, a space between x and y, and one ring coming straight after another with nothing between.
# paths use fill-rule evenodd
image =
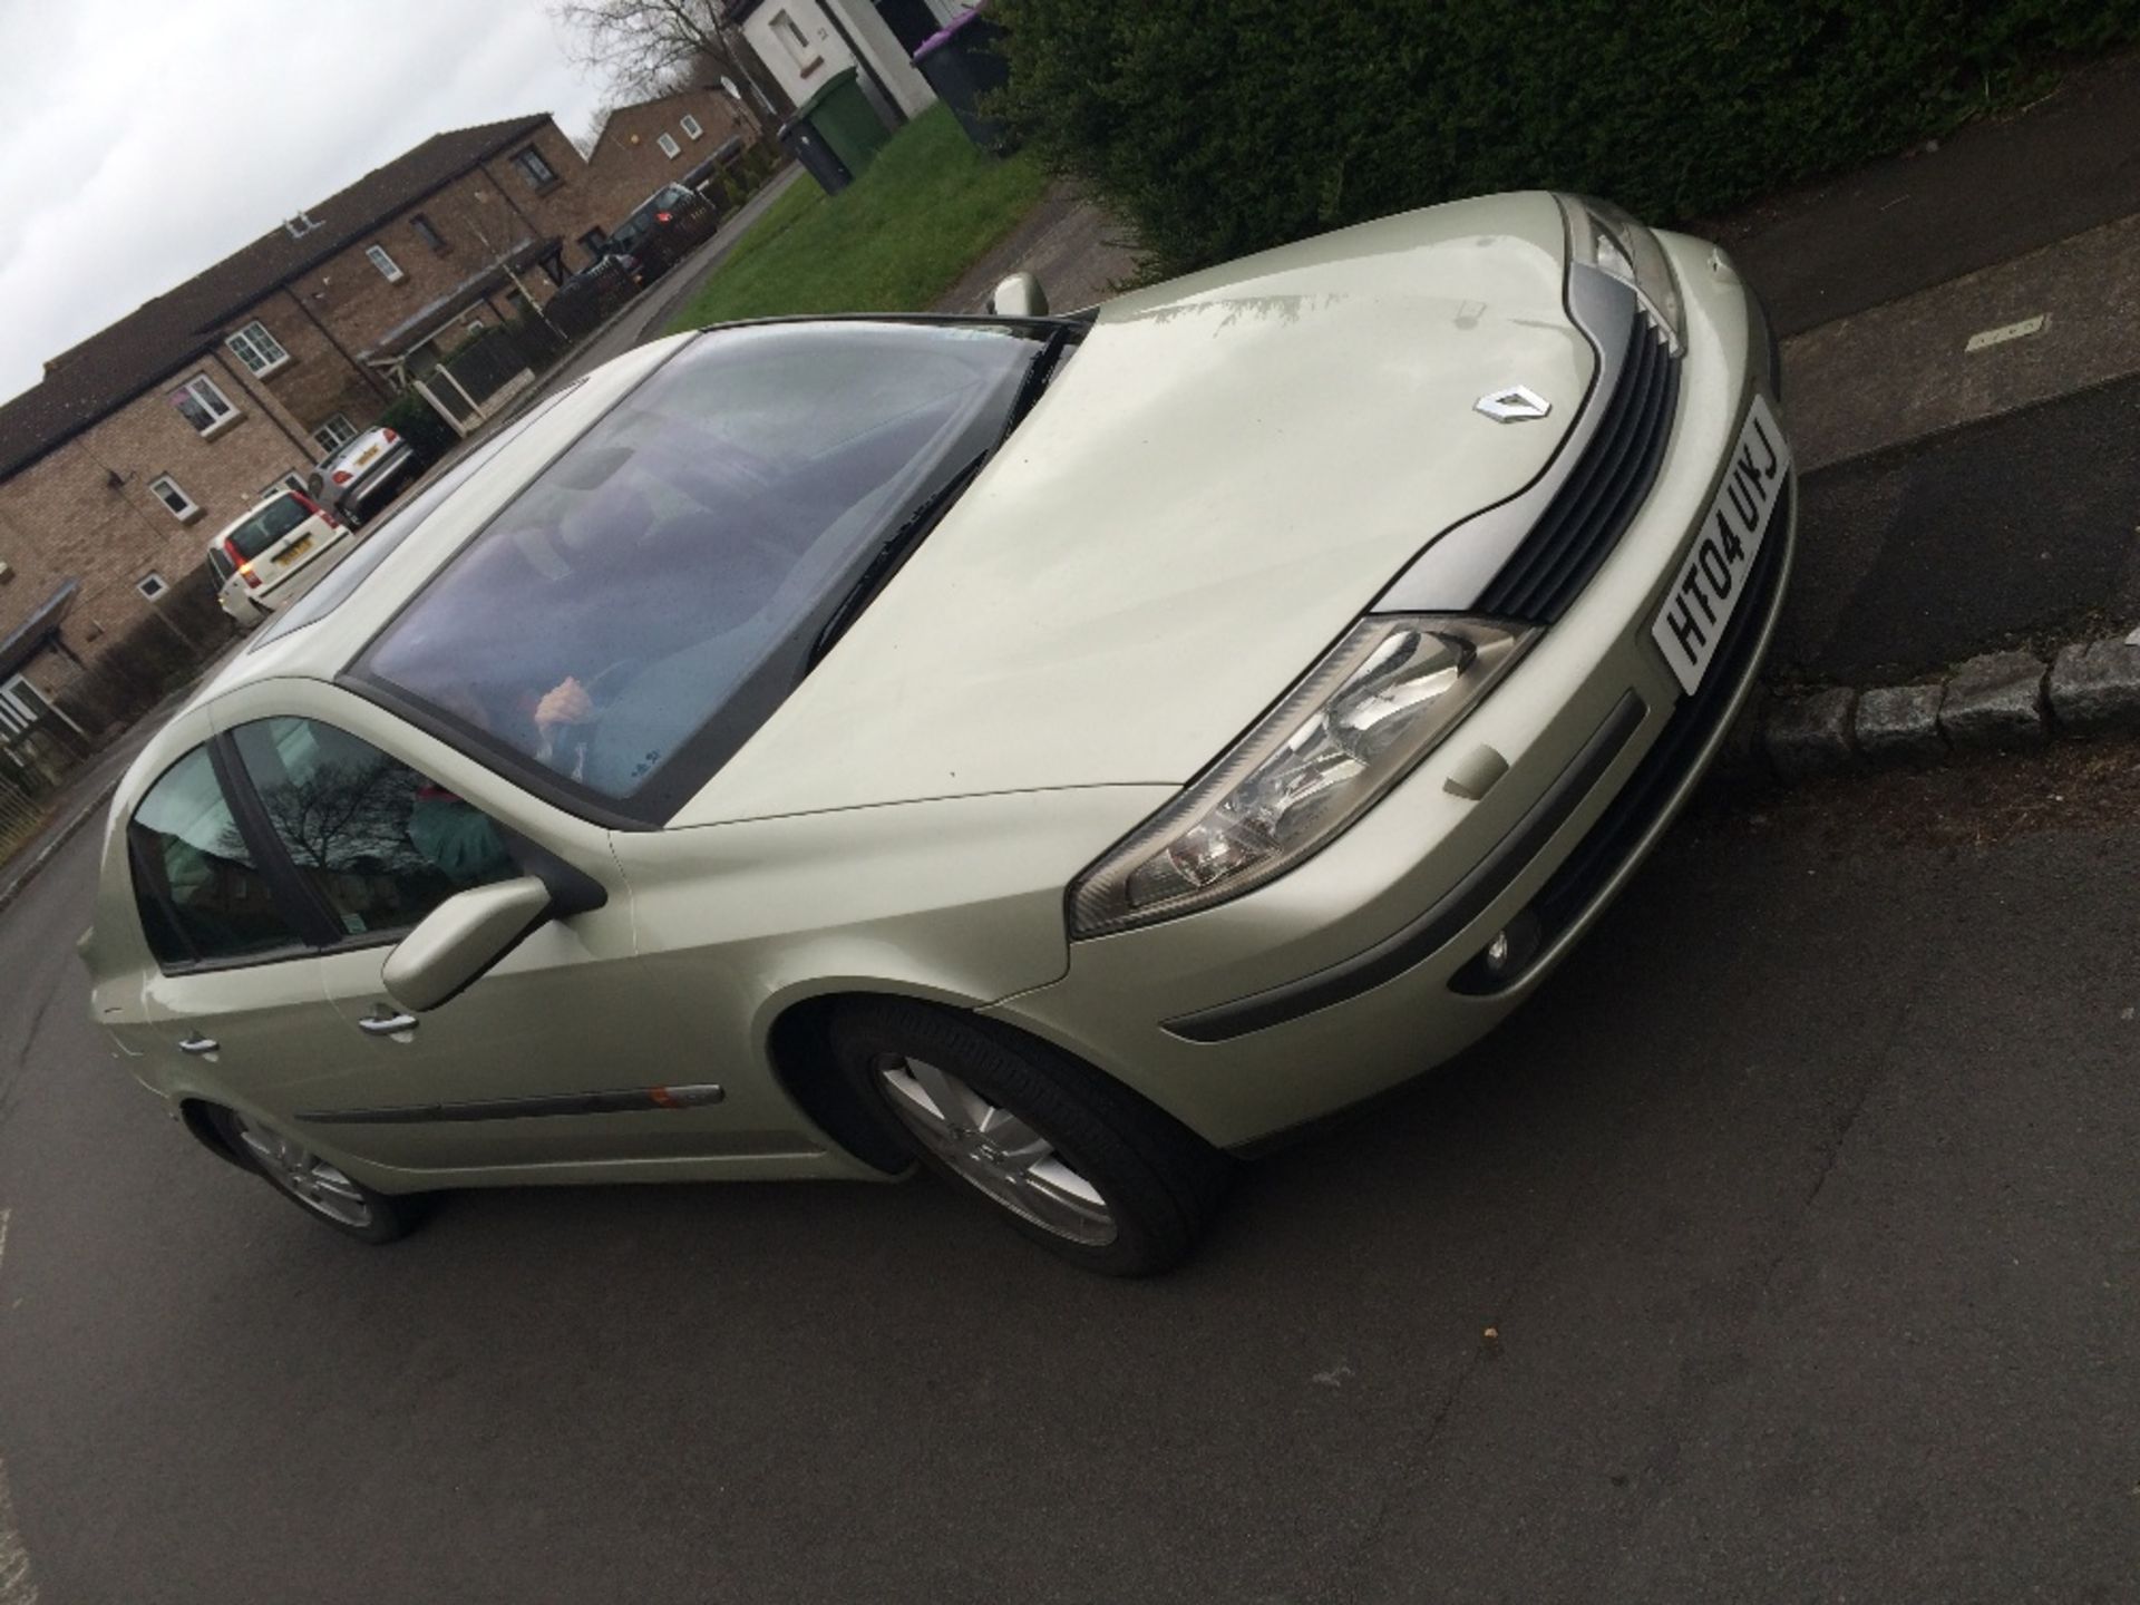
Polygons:
<instances>
[{"instance_id":1,"label":"black border trim around the Renault's windscreen","mask_svg":"<svg viewBox=\"0 0 2140 1605\"><path fill-rule=\"evenodd\" d=\"M764 330L764 327L785 327L798 323L918 323L924 327L1017 330L1021 334L1036 336L1044 345L1053 336L1066 332L1070 334L1070 338L1083 338L1083 334L1094 323L1096 315L1098 308L1087 308L1083 312L1070 312L1070 315L1046 315L1046 317L1004 317L995 312L794 312L785 317L753 317L753 319L740 319L736 323L715 323L710 327L700 330L693 338L678 342L676 351L663 357L655 368L648 368L640 377L640 381L631 385L631 389L623 392L597 417L588 419L586 428L582 428L578 434L565 441L565 445L561 445L548 462L535 469L529 475L526 484L535 484L535 479L550 473L550 469L556 467L559 458L563 458L565 452L576 447L595 428L599 428L601 422L614 409L623 407L631 396L640 392L642 385L651 383L655 374L666 370L670 362L674 362L685 351L691 351L693 347L700 345L700 340L706 340L708 336L728 334L732 330ZM1040 353L1036 353L1036 360L1038 355ZM1008 439L1008 434L1004 439ZM1002 449L1002 441L997 443L997 449ZM486 518L477 529L469 531L469 535L460 541L460 546L456 546L454 552L447 554L447 559L439 565L432 578L445 574L447 565L452 565L462 552L471 550L499 518L511 511L516 501L518 494L507 499L505 505L499 507L490 518ZM387 616L387 621L381 623L379 629L374 629L364 640L362 646L357 646L357 651L349 657L349 661L342 663L342 668L336 672L334 685L349 691L351 696L364 698L366 702L383 708L385 713L392 713L402 723L415 725L426 736L443 740L445 745L454 747L454 751L458 751L462 758L482 764L486 770L496 775L507 785L526 792L529 796L541 802L548 802L561 813L569 813L576 820L601 826L603 830L629 830L629 832L666 830L668 824L691 802L691 798L706 788L713 775L719 773L719 766L715 766L715 770L698 775L696 779L678 775L676 783L672 785L659 790L648 788L651 794L644 800L653 802L655 807L633 811L625 807L629 798L623 800L608 798L588 785L578 785L559 775L556 770L544 766L535 758L529 758L526 753L514 751L511 747L499 743L494 736L490 736L490 732L479 730L473 723L445 713L443 708L432 708L428 702L419 702L417 698L407 696L400 687L379 678L370 670L372 648L387 638L387 633L400 623L402 614L409 612L409 608L413 608L417 601L422 601L428 595L428 591L430 591L430 580L417 586L415 593L409 595L400 603L400 608L396 608ZM760 666L758 674L753 674L751 681L738 687L738 698L762 693L760 681L768 678L768 670L770 663ZM704 743L704 732L693 734L683 747L678 747L674 762L687 764L687 760L691 758L691 749L700 747L702 743Z\"/></svg>"}]
</instances>

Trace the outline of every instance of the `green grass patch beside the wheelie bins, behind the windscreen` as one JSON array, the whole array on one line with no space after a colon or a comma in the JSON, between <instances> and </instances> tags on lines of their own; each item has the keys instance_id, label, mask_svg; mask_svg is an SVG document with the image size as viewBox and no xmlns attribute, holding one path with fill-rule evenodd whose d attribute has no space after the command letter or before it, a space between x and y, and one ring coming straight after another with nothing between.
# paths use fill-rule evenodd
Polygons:
<instances>
[{"instance_id":1,"label":"green grass patch beside the wheelie bins, behind the windscreen","mask_svg":"<svg viewBox=\"0 0 2140 1605\"><path fill-rule=\"evenodd\" d=\"M976 150L944 105L892 135L839 195L798 180L670 321L676 330L783 312L916 312L1034 208L1031 156Z\"/></svg>"}]
</instances>

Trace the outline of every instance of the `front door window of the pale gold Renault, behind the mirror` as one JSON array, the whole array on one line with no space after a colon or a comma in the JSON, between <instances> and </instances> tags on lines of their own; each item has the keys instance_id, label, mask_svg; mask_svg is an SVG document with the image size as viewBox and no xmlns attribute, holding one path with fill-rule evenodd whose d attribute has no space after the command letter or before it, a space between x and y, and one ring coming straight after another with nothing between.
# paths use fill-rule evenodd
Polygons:
<instances>
[{"instance_id":1,"label":"front door window of the pale gold Renault, behind the mirror","mask_svg":"<svg viewBox=\"0 0 2140 1605\"><path fill-rule=\"evenodd\" d=\"M488 815L345 730L261 719L235 740L276 839L353 937L520 873Z\"/></svg>"}]
</instances>

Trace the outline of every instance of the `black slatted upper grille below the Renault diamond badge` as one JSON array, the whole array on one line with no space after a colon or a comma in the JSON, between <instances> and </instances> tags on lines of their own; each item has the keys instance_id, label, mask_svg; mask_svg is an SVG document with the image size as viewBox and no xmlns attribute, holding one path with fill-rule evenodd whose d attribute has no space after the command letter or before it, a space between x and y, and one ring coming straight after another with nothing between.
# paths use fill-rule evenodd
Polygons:
<instances>
[{"instance_id":1,"label":"black slatted upper grille below the Renault diamond badge","mask_svg":"<svg viewBox=\"0 0 2140 1605\"><path fill-rule=\"evenodd\" d=\"M1650 494L1678 400L1680 360L1656 325L1637 315L1584 460L1487 584L1479 612L1549 625L1569 610Z\"/></svg>"}]
</instances>

